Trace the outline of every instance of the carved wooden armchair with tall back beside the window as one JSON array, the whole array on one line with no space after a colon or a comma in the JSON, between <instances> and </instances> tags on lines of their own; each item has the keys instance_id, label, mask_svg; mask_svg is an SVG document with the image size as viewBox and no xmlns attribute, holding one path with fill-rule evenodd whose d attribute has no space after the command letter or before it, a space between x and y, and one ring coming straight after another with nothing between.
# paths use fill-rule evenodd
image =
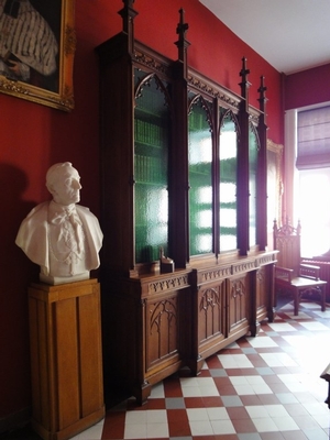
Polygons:
<instances>
[{"instance_id":1,"label":"carved wooden armchair with tall back beside the window","mask_svg":"<svg viewBox=\"0 0 330 440\"><path fill-rule=\"evenodd\" d=\"M300 258L300 232L288 224L288 221L277 228L274 221L274 249L278 250L277 264L275 266L275 293L284 290L294 297L295 315L298 315L301 297L314 300L314 295L320 296L321 310L326 310L327 282L319 276L320 267L311 264L301 264Z\"/></svg>"}]
</instances>

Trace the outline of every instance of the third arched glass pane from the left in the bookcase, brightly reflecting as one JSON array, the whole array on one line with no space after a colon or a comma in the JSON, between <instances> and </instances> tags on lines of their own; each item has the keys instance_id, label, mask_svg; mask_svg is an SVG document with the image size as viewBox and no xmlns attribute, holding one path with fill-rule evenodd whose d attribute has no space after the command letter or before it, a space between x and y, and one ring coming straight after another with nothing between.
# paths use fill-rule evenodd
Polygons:
<instances>
[{"instance_id":1,"label":"third arched glass pane from the left in the bookcase, brightly reflecting","mask_svg":"<svg viewBox=\"0 0 330 440\"><path fill-rule=\"evenodd\" d=\"M220 109L220 117L219 249L226 252L238 248L238 133L231 112Z\"/></svg>"}]
</instances>

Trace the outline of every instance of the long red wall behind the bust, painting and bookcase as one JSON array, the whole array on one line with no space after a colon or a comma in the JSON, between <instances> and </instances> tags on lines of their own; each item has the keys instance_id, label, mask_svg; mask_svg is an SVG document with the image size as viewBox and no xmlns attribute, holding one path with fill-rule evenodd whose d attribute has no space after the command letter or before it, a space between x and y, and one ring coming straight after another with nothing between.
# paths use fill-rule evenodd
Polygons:
<instances>
[{"instance_id":1,"label":"long red wall behind the bust, painting and bookcase","mask_svg":"<svg viewBox=\"0 0 330 440\"><path fill-rule=\"evenodd\" d=\"M136 0L136 38L175 59L182 7L189 23L189 64L239 94L245 56L251 69L250 102L258 106L257 88L264 75L268 138L282 143L280 75L198 0ZM121 0L76 1L76 107L72 113L0 94L0 422L31 405L26 288L37 279L38 267L15 246L15 234L31 208L48 198L45 173L56 162L73 162L81 175L81 204L99 215L98 58L94 48L121 30L117 13L121 8Z\"/></svg>"}]
</instances>

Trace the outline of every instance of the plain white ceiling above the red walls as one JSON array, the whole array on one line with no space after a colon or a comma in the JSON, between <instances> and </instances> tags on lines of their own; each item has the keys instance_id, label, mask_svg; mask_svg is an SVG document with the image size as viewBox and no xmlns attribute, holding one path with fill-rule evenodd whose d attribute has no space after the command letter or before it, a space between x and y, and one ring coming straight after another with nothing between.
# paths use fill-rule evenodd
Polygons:
<instances>
[{"instance_id":1,"label":"plain white ceiling above the red walls","mask_svg":"<svg viewBox=\"0 0 330 440\"><path fill-rule=\"evenodd\" d=\"M286 75L330 63L330 0L199 0Z\"/></svg>"}]
</instances>

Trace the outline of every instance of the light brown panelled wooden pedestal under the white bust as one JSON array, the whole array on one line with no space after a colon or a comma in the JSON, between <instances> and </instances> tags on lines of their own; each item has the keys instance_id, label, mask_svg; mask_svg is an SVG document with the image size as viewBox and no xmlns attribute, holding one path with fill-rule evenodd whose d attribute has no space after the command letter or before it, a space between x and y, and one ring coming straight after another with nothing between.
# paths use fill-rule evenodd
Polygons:
<instances>
[{"instance_id":1,"label":"light brown panelled wooden pedestal under the white bust","mask_svg":"<svg viewBox=\"0 0 330 440\"><path fill-rule=\"evenodd\" d=\"M105 417L97 279L29 288L32 426L66 440Z\"/></svg>"}]
</instances>

